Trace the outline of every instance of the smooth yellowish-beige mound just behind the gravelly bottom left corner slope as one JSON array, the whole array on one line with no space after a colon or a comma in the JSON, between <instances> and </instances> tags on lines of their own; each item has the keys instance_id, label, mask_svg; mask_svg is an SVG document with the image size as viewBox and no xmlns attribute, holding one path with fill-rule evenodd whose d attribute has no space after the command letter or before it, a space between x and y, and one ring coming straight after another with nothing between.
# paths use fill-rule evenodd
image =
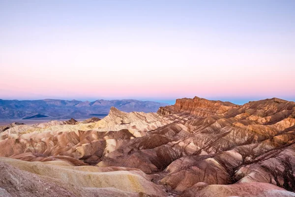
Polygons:
<instances>
[{"instance_id":1,"label":"smooth yellowish-beige mound just behind the gravelly bottom left corner slope","mask_svg":"<svg viewBox=\"0 0 295 197\"><path fill-rule=\"evenodd\" d=\"M163 187L150 182L150 178L138 170L120 168L101 169L95 166L69 166L65 163L26 162L10 158L0 158L1 162L21 170L57 179L82 188L110 188L131 193L145 193L152 196L165 196ZM61 165L61 166L59 166ZM144 176L141 176L144 175Z\"/></svg>"}]
</instances>

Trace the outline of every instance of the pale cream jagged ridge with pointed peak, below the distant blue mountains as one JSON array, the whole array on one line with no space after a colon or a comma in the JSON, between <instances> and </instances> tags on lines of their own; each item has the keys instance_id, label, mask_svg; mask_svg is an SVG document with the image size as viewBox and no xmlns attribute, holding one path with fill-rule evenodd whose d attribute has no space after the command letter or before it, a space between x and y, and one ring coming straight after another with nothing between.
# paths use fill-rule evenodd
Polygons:
<instances>
[{"instance_id":1,"label":"pale cream jagged ridge with pointed peak, below the distant blue mountains","mask_svg":"<svg viewBox=\"0 0 295 197\"><path fill-rule=\"evenodd\" d=\"M53 132L68 132L68 131L119 131L127 129L136 136L145 135L145 131L151 131L163 125L166 125L171 120L163 119L157 113L143 113L143 112L122 112L112 107L108 116L100 121L91 123L75 123L65 124L64 121L51 121L49 123L42 123L33 126L19 125L3 131L0 135L2 139L18 138L19 135L27 133L47 133ZM23 137L30 135L24 135Z\"/></svg>"}]
</instances>

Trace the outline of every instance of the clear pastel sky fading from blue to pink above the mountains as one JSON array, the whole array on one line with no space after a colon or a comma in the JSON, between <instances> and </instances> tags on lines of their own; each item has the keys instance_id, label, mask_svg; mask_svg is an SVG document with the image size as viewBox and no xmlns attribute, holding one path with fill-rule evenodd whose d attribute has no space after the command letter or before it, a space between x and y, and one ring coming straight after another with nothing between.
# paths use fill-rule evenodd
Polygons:
<instances>
[{"instance_id":1,"label":"clear pastel sky fading from blue to pink above the mountains","mask_svg":"<svg viewBox=\"0 0 295 197\"><path fill-rule=\"evenodd\" d=\"M295 0L0 0L0 99L295 100Z\"/></svg>"}]
</instances>

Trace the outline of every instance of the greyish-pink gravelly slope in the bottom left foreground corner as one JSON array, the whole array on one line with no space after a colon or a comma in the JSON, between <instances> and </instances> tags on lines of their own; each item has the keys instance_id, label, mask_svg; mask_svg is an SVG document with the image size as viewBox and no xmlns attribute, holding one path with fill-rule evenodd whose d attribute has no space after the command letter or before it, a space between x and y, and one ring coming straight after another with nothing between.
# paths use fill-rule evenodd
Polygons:
<instances>
[{"instance_id":1,"label":"greyish-pink gravelly slope in the bottom left foreground corner","mask_svg":"<svg viewBox=\"0 0 295 197\"><path fill-rule=\"evenodd\" d=\"M15 161L17 163L17 161ZM25 167L25 165L23 166ZM57 172L56 172L57 173ZM84 188L0 161L1 197L141 197L115 188Z\"/></svg>"}]
</instances>

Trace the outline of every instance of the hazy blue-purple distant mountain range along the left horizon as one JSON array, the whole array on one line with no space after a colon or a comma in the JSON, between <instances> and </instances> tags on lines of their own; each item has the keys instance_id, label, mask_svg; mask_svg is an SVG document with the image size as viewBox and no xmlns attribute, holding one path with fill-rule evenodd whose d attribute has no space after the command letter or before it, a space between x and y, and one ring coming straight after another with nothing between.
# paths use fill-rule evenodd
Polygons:
<instances>
[{"instance_id":1,"label":"hazy blue-purple distant mountain range along the left horizon","mask_svg":"<svg viewBox=\"0 0 295 197\"><path fill-rule=\"evenodd\" d=\"M123 100L2 100L0 99L0 119L69 119L106 116L110 108L115 106L121 111L156 112L160 106L167 103L141 101L134 99Z\"/></svg>"}]
</instances>

